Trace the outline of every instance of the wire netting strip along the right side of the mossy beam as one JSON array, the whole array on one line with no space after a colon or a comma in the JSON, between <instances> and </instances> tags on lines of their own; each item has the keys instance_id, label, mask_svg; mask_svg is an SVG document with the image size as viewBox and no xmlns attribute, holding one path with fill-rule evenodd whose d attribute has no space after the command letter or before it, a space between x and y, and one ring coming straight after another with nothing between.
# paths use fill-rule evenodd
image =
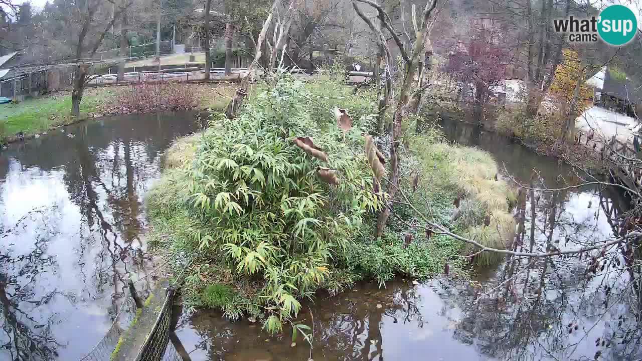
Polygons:
<instances>
[{"instance_id":1,"label":"wire netting strip along the right side of the mossy beam","mask_svg":"<svg viewBox=\"0 0 642 361\"><path fill-rule=\"evenodd\" d=\"M173 344L169 342L169 333L171 332L171 307L174 299L174 290L169 288L165 302L162 304L159 316L156 319L152 331L150 331L141 351L138 353L135 361L161 361L161 360L178 360L178 354ZM166 349L170 349L168 357L175 355L174 358L164 358ZM171 354L171 355L170 355Z\"/></svg>"}]
</instances>

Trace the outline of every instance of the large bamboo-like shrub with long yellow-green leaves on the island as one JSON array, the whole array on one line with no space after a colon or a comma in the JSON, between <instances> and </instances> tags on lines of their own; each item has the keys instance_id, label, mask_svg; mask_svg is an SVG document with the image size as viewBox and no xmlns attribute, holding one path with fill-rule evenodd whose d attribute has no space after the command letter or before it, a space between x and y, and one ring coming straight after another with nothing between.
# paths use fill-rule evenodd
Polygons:
<instances>
[{"instance_id":1,"label":"large bamboo-like shrub with long yellow-green leaves on the island","mask_svg":"<svg viewBox=\"0 0 642 361\"><path fill-rule=\"evenodd\" d=\"M365 118L345 135L336 125L322 131L307 95L301 82L280 80L257 91L238 119L206 130L182 193L205 225L193 237L198 248L256 281L252 302L268 312L269 331L299 312L297 297L324 285L333 259L352 247L363 214L379 207L362 189L372 188L365 158L351 149L363 149ZM329 164L302 152L296 136L312 136ZM319 166L338 170L340 184L317 177Z\"/></svg>"}]
</instances>

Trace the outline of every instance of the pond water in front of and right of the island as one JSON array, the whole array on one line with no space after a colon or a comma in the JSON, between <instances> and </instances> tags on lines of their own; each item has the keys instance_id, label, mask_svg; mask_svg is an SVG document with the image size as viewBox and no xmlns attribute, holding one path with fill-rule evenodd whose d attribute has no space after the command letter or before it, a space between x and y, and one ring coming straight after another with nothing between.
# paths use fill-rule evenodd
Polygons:
<instances>
[{"instance_id":1,"label":"pond water in front of and right of the island","mask_svg":"<svg viewBox=\"0 0 642 361\"><path fill-rule=\"evenodd\" d=\"M505 167L505 177L510 174L528 182L536 169L537 186L578 181L569 166L539 157L506 137L462 123L441 126L449 141L490 152ZM531 229L533 250L541 252L547 245L564 250L609 238L616 225L607 214L625 204L612 189L535 194L525 205L526 235L519 248L530 247ZM385 289L364 283L336 297L319 294L310 305L312 315L306 307L300 314L300 322L314 326L312 348L300 338L292 346L290 330L268 337L260 325L227 322L218 312L183 313L177 335L192 360L642 357L638 347L642 333L631 311L635 300L628 292L629 272L615 272L609 266L591 277L586 274L586 260L577 257L538 260L526 267L528 263L512 258L476 269L472 284L453 277L419 285L398 279Z\"/></svg>"}]
</instances>

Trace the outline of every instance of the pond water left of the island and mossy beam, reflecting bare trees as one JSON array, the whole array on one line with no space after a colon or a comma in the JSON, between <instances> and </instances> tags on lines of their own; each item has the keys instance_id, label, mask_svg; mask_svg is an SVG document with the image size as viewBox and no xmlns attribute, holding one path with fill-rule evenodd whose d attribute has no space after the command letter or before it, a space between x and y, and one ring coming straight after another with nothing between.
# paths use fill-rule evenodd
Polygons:
<instances>
[{"instance_id":1,"label":"pond water left of the island and mossy beam, reflecting bare trees","mask_svg":"<svg viewBox=\"0 0 642 361\"><path fill-rule=\"evenodd\" d=\"M143 195L190 114L61 127L0 151L0 360L77 360L143 279ZM144 278L137 288L149 287Z\"/></svg>"}]
</instances>

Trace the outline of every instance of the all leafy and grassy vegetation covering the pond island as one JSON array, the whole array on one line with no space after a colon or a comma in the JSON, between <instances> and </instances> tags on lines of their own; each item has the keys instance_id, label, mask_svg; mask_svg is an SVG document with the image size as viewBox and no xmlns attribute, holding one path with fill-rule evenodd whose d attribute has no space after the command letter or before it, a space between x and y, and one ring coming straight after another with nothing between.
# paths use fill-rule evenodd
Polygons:
<instances>
[{"instance_id":1,"label":"all leafy and grassy vegetation covering the pond island","mask_svg":"<svg viewBox=\"0 0 642 361\"><path fill-rule=\"evenodd\" d=\"M342 103L331 103L336 99ZM351 130L336 127L334 105L350 109ZM464 243L444 235L426 240L408 227L418 218L406 205L394 206L385 234L374 240L383 194L372 192L362 136L373 127L374 111L372 92L351 95L340 74L306 84L284 76L273 87L259 86L238 119L216 116L201 134L177 140L146 209L152 245L184 276L187 306L220 308L232 320L252 317L275 333L284 322L296 326L300 300L318 289L341 292L360 279L382 286L395 276L425 279L446 264L465 274ZM312 137L327 162L294 145L297 136ZM386 137L377 142L385 151ZM447 145L433 128L407 143L401 186L413 206L456 233L483 229L480 242L501 246L514 227L512 198L495 179L492 157ZM336 170L338 185L323 182L319 166ZM466 216L453 218L455 198L467 204Z\"/></svg>"}]
</instances>

